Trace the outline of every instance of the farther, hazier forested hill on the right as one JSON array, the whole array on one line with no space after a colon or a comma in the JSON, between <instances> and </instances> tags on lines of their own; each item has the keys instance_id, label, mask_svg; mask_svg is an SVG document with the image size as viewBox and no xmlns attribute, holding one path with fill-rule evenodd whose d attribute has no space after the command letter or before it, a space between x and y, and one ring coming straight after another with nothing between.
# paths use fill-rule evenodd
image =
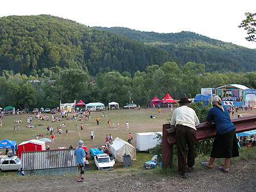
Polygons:
<instances>
[{"instance_id":1,"label":"farther, hazier forested hill on the right","mask_svg":"<svg viewBox=\"0 0 256 192\"><path fill-rule=\"evenodd\" d=\"M123 27L94 27L127 36L147 45L164 49L179 66L189 61L205 64L207 72L250 72L256 70L256 49L210 39L194 32L159 34ZM252 42L253 43L253 42Z\"/></svg>"}]
</instances>

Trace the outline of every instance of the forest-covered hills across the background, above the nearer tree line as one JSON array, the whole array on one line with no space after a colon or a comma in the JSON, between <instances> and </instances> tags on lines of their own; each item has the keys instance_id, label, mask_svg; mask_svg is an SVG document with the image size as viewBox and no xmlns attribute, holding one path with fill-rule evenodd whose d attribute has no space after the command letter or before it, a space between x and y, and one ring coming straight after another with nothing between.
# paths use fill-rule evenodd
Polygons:
<instances>
[{"instance_id":1,"label":"forest-covered hills across the background, above the nearer tree line","mask_svg":"<svg viewBox=\"0 0 256 192\"><path fill-rule=\"evenodd\" d=\"M163 66L167 61L179 67L187 62L204 64L206 72L256 70L255 49L193 32L98 29L51 15L2 17L0 72L5 69L41 76L46 69L56 72L59 67L88 70L93 76L112 70L133 74L152 64Z\"/></svg>"}]
</instances>

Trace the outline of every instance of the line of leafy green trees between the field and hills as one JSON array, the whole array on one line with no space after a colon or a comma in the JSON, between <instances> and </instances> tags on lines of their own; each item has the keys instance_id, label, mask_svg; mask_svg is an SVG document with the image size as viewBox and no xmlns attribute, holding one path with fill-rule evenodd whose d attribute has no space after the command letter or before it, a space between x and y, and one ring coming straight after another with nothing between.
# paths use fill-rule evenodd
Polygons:
<instances>
[{"instance_id":1,"label":"line of leafy green trees between the field and hills","mask_svg":"<svg viewBox=\"0 0 256 192\"><path fill-rule=\"evenodd\" d=\"M95 85L92 80L96 80ZM176 62L165 62L163 66L150 65L135 73L112 70L96 76L91 76L88 70L60 67L44 69L34 76L3 70L0 107L55 108L60 100L65 103L75 99L105 105L115 101L122 106L129 102L130 96L137 105L146 105L155 96L162 99L167 92L174 99L184 95L193 98L202 87L216 88L226 84L242 84L255 89L256 72L206 73L205 65L195 62L188 62L183 67Z\"/></svg>"}]
</instances>

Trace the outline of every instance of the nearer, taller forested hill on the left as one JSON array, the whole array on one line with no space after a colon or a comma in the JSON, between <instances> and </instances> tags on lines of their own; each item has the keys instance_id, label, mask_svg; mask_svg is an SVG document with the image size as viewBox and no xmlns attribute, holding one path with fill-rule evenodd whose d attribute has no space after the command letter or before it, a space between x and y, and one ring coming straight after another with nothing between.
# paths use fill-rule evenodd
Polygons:
<instances>
[{"instance_id":1,"label":"nearer, taller forested hill on the left","mask_svg":"<svg viewBox=\"0 0 256 192\"><path fill-rule=\"evenodd\" d=\"M134 73L169 61L167 51L51 15L0 18L0 73L42 74L60 68Z\"/></svg>"}]
</instances>

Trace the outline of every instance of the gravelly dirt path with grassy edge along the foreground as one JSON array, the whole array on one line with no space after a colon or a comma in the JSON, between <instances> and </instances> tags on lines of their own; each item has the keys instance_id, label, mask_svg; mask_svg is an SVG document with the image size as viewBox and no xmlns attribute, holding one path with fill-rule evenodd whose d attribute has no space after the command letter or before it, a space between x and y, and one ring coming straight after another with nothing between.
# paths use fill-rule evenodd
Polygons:
<instances>
[{"instance_id":1,"label":"gravelly dirt path with grassy edge along the foreground","mask_svg":"<svg viewBox=\"0 0 256 192\"><path fill-rule=\"evenodd\" d=\"M61 176L25 176L5 181L0 177L1 191L253 191L256 187L256 160L239 161L230 166L230 173L206 169L198 165L187 179L156 171L93 172L85 182L76 182L78 174Z\"/></svg>"}]
</instances>

